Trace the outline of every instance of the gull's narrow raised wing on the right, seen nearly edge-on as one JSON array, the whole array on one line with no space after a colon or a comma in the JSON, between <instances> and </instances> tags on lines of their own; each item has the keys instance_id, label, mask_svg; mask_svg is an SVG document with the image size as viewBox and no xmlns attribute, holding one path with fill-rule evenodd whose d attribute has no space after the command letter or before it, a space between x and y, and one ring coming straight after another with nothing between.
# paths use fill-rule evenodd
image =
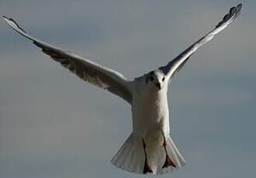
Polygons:
<instances>
[{"instance_id":1,"label":"gull's narrow raised wing on the right, seen nearly edge-on","mask_svg":"<svg viewBox=\"0 0 256 178\"><path fill-rule=\"evenodd\" d=\"M213 36L215 36L217 33L220 33L231 22L233 22L234 19L236 19L237 16L240 14L241 9L242 4L231 8L230 12L223 17L222 21L218 23L215 29L213 29L211 32L207 33L206 36L203 36L201 39L193 43L192 46L189 46L187 50L183 51L174 60L171 60L166 66L160 67L159 69L163 71L168 79L170 79L172 76L174 76L175 72L178 72L178 70L180 70L185 65L185 63L189 60L189 57L192 55L192 53L195 52L195 50L199 49L200 46L209 42L209 40L213 39Z\"/></svg>"}]
</instances>

